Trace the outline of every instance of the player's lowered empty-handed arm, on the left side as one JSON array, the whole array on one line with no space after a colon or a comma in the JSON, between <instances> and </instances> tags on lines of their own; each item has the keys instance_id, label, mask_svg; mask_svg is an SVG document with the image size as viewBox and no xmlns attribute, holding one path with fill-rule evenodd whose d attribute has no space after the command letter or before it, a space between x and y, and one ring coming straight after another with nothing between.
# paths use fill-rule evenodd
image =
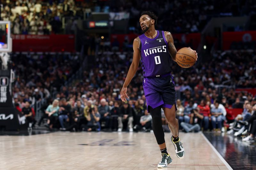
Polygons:
<instances>
[{"instance_id":1,"label":"player's lowered empty-handed arm, on the left side","mask_svg":"<svg viewBox=\"0 0 256 170\"><path fill-rule=\"evenodd\" d=\"M136 71L137 71L137 69L139 67L139 63L140 63L140 38L137 37L133 41L133 59L132 59L132 64L131 64L131 66L129 68L129 71L127 73L127 76L125 78L123 88L122 88L122 90L120 92L121 100L123 102L126 101L126 98L129 99L129 97L126 94L127 86L131 82L132 77L135 75L135 73L136 73Z\"/></svg>"}]
</instances>

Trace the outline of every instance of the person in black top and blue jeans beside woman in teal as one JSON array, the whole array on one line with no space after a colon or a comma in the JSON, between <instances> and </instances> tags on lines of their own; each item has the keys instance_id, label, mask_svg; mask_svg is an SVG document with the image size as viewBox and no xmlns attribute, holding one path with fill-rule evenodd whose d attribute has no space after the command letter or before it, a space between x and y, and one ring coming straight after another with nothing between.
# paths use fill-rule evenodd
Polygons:
<instances>
[{"instance_id":1,"label":"person in black top and blue jeans beside woman in teal","mask_svg":"<svg viewBox=\"0 0 256 170\"><path fill-rule=\"evenodd\" d=\"M67 100L65 98L61 99L61 105L60 105L60 116L59 116L59 121L60 121L60 130L66 130L66 127L68 126L68 123L70 121L71 115L71 106L70 104L67 103ZM66 122L66 125L64 125L64 121Z\"/></svg>"}]
</instances>

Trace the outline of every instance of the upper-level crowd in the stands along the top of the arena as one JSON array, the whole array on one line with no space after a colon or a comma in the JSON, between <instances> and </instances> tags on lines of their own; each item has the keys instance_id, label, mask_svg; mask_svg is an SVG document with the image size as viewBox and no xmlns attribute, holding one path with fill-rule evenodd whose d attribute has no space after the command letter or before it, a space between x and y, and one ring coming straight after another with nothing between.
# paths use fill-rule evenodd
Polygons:
<instances>
[{"instance_id":1,"label":"upper-level crowd in the stands along the top of the arena","mask_svg":"<svg viewBox=\"0 0 256 170\"><path fill-rule=\"evenodd\" d=\"M209 18L250 14L251 1L175 0L175 1L75 1L75 0L1 0L1 18L12 21L14 34L62 33L62 18L86 19L92 11L129 12L129 27L137 32L142 11L154 11L159 29L172 33L200 32ZM172 23L172 24L166 24ZM162 25L162 26L160 26ZM73 28L74 29L74 28ZM133 29L132 29L133 30ZM73 30L74 31L74 30Z\"/></svg>"}]
</instances>

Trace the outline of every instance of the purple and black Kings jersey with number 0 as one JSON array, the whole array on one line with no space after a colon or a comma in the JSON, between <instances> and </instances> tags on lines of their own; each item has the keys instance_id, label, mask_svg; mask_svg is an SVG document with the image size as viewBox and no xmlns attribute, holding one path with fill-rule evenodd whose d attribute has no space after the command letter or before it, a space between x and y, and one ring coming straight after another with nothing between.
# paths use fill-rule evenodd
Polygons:
<instances>
[{"instance_id":1,"label":"purple and black Kings jersey with number 0","mask_svg":"<svg viewBox=\"0 0 256 170\"><path fill-rule=\"evenodd\" d=\"M141 66L144 77L171 73L171 57L164 31L157 31L154 39L142 34L140 38Z\"/></svg>"}]
</instances>

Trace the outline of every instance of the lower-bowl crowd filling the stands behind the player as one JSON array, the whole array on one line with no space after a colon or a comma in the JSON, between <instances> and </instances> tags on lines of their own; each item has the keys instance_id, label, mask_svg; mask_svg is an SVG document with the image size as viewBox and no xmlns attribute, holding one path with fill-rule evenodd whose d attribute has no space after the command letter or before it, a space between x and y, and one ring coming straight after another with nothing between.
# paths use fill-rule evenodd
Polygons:
<instances>
[{"instance_id":1,"label":"lower-bowl crowd filling the stands behind the player","mask_svg":"<svg viewBox=\"0 0 256 170\"><path fill-rule=\"evenodd\" d=\"M19 55L12 57L13 68L18 75L13 97L21 109L27 101L48 98L47 104L42 108L44 115L38 121L38 125L47 118L47 127L50 129L152 130L151 116L147 112L141 83L143 80L141 67L138 68L137 74L128 87L127 94L130 100L127 103L120 101L119 93L132 61L131 52L102 51L95 57L90 71L84 71L83 77L72 86L62 88L60 87L64 84L65 77L74 73L71 67L78 67L78 56L61 54L61 57L54 57L46 54L31 56L26 54L26 60L22 61L19 60ZM231 60L233 55L236 55L236 59ZM249 101L253 107L256 100L252 94L246 91L238 93L235 88L218 88L216 85L226 80L232 82L239 77L248 76L248 80L245 80L249 81L248 86L243 87L251 87L250 85L255 83L252 81L255 74L253 64L255 59L255 52L233 51L215 53L211 62L189 69L182 69L173 64L175 88L180 96L177 100L180 129L187 132L201 129L220 132L224 124L232 123L235 119L228 111L230 108L243 108L245 101ZM234 66L238 67L239 71L233 69L231 72ZM31 71L25 69L27 67L30 67ZM239 79L237 79L237 85L239 85L238 81ZM50 87L58 89L56 96L49 95ZM162 116L163 128L169 131L164 114Z\"/></svg>"}]
</instances>

